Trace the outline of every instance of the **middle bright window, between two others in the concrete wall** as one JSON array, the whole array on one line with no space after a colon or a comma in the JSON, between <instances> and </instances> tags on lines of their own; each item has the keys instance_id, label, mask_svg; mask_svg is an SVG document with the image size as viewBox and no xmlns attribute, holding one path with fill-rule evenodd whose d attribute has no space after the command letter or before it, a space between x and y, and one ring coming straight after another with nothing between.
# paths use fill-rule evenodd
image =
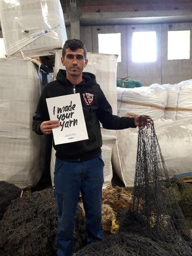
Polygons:
<instances>
[{"instance_id":1,"label":"middle bright window, between two others in the concrete wall","mask_svg":"<svg viewBox=\"0 0 192 256\"><path fill-rule=\"evenodd\" d=\"M154 62L157 58L156 31L133 32L132 61Z\"/></svg>"}]
</instances>

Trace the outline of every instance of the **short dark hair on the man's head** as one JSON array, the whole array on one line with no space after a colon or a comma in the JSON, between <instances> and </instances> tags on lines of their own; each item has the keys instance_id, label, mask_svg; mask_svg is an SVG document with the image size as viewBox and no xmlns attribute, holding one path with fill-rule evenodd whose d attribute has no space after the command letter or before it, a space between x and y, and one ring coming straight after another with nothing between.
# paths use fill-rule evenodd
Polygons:
<instances>
[{"instance_id":1,"label":"short dark hair on the man's head","mask_svg":"<svg viewBox=\"0 0 192 256\"><path fill-rule=\"evenodd\" d=\"M62 57L64 58L66 55L66 49L70 49L71 51L75 51L77 49L84 50L84 57L87 58L87 51L85 44L79 39L68 39L63 45L62 49Z\"/></svg>"}]
</instances>

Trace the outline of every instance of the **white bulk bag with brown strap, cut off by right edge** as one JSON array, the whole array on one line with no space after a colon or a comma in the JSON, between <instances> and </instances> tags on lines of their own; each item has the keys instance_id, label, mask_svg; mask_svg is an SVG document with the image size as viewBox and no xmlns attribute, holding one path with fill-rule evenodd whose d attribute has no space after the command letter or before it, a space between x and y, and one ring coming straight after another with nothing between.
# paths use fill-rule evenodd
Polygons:
<instances>
[{"instance_id":1,"label":"white bulk bag with brown strap, cut off by right edge","mask_svg":"<svg viewBox=\"0 0 192 256\"><path fill-rule=\"evenodd\" d=\"M168 92L165 118L180 120L192 117L192 79L178 84L164 84Z\"/></svg>"}]
</instances>

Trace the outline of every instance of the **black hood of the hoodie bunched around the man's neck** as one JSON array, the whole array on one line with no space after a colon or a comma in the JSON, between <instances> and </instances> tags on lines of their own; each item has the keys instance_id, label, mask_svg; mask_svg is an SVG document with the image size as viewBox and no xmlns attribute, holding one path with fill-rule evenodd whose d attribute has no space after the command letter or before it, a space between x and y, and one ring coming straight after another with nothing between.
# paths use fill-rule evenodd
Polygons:
<instances>
[{"instance_id":1,"label":"black hood of the hoodie bunched around the man's neck","mask_svg":"<svg viewBox=\"0 0 192 256\"><path fill-rule=\"evenodd\" d=\"M97 83L96 77L92 73L83 72L82 78L83 78L82 82L77 84L77 86L83 85L84 87L87 87L87 86L92 86L93 84ZM61 83L67 82L67 84L71 85L70 81L66 78L66 70L64 70L64 69L59 69L56 79L58 81L60 81Z\"/></svg>"}]
</instances>

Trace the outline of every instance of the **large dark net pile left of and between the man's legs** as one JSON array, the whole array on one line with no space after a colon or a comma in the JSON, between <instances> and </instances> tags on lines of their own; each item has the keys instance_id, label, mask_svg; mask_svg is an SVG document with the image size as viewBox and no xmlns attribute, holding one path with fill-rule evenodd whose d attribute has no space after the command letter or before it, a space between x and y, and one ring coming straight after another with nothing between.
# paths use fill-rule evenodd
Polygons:
<instances>
[{"instance_id":1,"label":"large dark net pile left of and between the man's legs","mask_svg":"<svg viewBox=\"0 0 192 256\"><path fill-rule=\"evenodd\" d=\"M56 256L57 206L52 189L23 193L10 203L0 221L1 256ZM81 234L81 235L79 235ZM85 220L77 206L74 251L86 244Z\"/></svg>"}]
</instances>

